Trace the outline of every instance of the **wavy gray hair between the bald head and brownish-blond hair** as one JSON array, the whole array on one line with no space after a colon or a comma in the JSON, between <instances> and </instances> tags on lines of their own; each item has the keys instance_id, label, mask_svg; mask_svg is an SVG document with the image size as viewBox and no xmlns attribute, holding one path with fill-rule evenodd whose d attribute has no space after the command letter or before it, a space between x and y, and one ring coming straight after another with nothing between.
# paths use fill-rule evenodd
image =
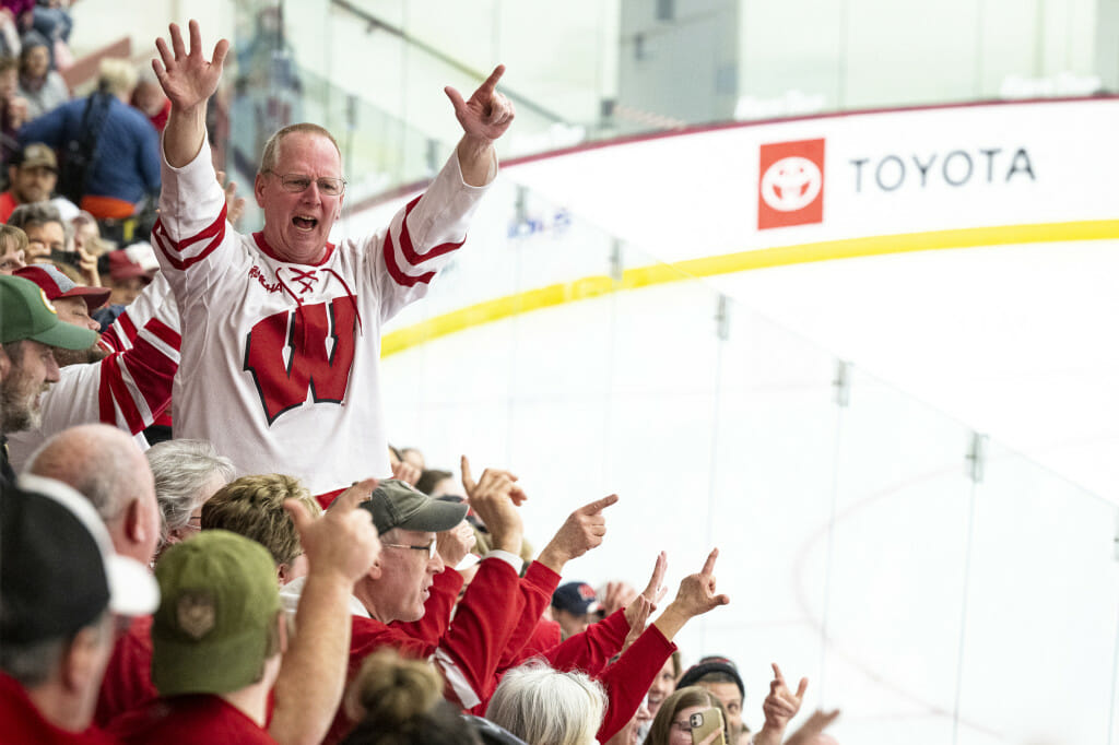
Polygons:
<instances>
[{"instance_id":1,"label":"wavy gray hair between the bald head and brownish-blond hair","mask_svg":"<svg viewBox=\"0 0 1119 745\"><path fill-rule=\"evenodd\" d=\"M163 518L160 545L172 530L187 526L210 477L217 474L227 484L237 475L233 461L218 455L206 440L168 440L152 445L144 455L156 478L156 500Z\"/></svg>"}]
</instances>

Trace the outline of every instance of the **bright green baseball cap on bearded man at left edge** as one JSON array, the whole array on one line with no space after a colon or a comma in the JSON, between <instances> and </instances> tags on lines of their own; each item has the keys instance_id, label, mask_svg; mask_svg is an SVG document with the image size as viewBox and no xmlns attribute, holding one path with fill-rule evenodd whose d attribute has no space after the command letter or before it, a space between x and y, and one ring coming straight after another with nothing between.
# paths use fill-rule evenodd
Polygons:
<instances>
[{"instance_id":1,"label":"bright green baseball cap on bearded man at left edge","mask_svg":"<svg viewBox=\"0 0 1119 745\"><path fill-rule=\"evenodd\" d=\"M21 339L63 349L88 349L97 342L97 334L59 321L46 293L30 280L0 274L0 343Z\"/></svg>"}]
</instances>

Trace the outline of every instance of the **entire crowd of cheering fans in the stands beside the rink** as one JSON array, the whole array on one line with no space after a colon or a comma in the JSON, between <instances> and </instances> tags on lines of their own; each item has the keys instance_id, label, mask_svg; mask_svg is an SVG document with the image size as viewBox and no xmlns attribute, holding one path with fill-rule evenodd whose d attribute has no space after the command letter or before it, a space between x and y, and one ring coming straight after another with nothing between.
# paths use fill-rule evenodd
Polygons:
<instances>
[{"instance_id":1,"label":"entire crowd of cheering fans in the stands beside the rink","mask_svg":"<svg viewBox=\"0 0 1119 745\"><path fill-rule=\"evenodd\" d=\"M534 551L511 472L476 479L463 458L455 478L387 444L375 330L422 296L496 176L492 141L513 119L502 68L469 98L448 88L463 139L384 233L327 242L340 157L299 125L266 145L265 225L242 236L243 202L205 142L224 41L206 57L197 23L188 38L172 26L154 81L137 88L110 64L97 93L67 103L54 72L65 9L2 4L21 44L3 35L20 62L0 94L15 138L0 196L4 742L834 742L837 711L789 732L808 681L789 686L778 664L761 701L712 650L683 664L674 638L730 602L717 549L675 592L664 554L640 592L565 582L617 496ZM119 141L86 163L75 204L56 195L59 163L93 116ZM143 164L121 177L125 161ZM161 183L151 242L110 246L101 229ZM200 430L210 405L222 416ZM339 427L359 456L336 468L316 449Z\"/></svg>"}]
</instances>

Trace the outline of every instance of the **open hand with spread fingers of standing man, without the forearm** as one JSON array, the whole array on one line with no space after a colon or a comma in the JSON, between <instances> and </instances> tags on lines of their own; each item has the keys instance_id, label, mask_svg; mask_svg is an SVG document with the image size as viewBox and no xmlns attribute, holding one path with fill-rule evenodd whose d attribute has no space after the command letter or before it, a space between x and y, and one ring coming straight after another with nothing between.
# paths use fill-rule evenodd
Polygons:
<instances>
[{"instance_id":1,"label":"open hand with spread fingers of standing man, without the forearm","mask_svg":"<svg viewBox=\"0 0 1119 745\"><path fill-rule=\"evenodd\" d=\"M190 48L184 44L182 30L177 23L169 27L171 44L162 37L156 39L159 59L151 60L156 77L163 93L171 101L171 106L180 111L190 111L206 102L217 91L222 79L222 68L225 56L229 51L229 43L218 40L214 46L214 55L207 59L203 55L203 35L198 21L188 25Z\"/></svg>"}]
</instances>

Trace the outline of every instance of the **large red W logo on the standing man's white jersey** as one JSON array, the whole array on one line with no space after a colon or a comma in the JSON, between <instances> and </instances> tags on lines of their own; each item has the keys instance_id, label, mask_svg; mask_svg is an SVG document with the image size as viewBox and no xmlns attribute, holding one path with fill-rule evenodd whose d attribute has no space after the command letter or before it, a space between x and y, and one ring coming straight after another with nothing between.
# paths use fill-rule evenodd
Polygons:
<instances>
[{"instance_id":1,"label":"large red W logo on the standing man's white jersey","mask_svg":"<svg viewBox=\"0 0 1119 745\"><path fill-rule=\"evenodd\" d=\"M355 321L352 301L337 298L329 305L300 305L270 315L253 327L245 340L245 369L253 374L270 425L302 405L308 389L316 403L340 404L346 398Z\"/></svg>"}]
</instances>

